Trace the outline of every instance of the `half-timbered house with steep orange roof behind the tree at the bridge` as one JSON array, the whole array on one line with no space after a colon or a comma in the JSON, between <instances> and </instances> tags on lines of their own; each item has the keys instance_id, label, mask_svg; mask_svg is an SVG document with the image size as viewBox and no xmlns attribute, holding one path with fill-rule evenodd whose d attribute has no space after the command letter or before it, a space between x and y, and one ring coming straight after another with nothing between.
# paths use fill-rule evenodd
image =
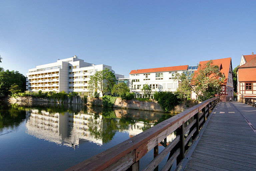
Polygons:
<instances>
[{"instance_id":1,"label":"half-timbered house with steep orange roof behind the tree at the bridge","mask_svg":"<svg viewBox=\"0 0 256 171\"><path fill-rule=\"evenodd\" d=\"M199 64L203 66L207 62L209 61L200 61ZM215 59L212 60L212 62L212 65L218 65L220 72L225 75L225 80L221 85L222 91L220 94L217 94L217 96L220 96L220 100L224 102L229 101L230 97L234 99L234 81L231 58ZM191 98L197 99L195 92L192 92Z\"/></svg>"}]
</instances>

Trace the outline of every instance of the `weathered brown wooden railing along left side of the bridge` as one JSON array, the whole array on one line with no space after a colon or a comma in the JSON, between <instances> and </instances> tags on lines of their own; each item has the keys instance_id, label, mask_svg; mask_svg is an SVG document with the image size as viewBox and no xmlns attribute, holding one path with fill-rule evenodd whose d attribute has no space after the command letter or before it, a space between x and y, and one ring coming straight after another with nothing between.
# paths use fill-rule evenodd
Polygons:
<instances>
[{"instance_id":1,"label":"weathered brown wooden railing along left side of the bridge","mask_svg":"<svg viewBox=\"0 0 256 171\"><path fill-rule=\"evenodd\" d=\"M175 160L178 165L184 158L189 142L197 136L218 102L218 97L206 100L66 171L138 171L140 159L153 148L154 159L142 170L158 170L159 163L168 154L162 170L169 170ZM166 145L166 137L174 131L176 138ZM165 149L158 154L159 143L164 143Z\"/></svg>"}]
</instances>

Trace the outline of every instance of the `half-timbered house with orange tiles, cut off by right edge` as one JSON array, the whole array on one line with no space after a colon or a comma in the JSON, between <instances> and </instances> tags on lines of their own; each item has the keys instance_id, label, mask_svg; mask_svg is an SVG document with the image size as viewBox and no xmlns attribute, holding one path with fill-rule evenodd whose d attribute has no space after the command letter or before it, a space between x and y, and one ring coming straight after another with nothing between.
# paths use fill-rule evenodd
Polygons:
<instances>
[{"instance_id":1,"label":"half-timbered house with orange tiles, cut off by right edge","mask_svg":"<svg viewBox=\"0 0 256 171\"><path fill-rule=\"evenodd\" d=\"M244 62L245 61L245 62ZM238 101L256 98L256 55L242 55L237 70Z\"/></svg>"}]
</instances>

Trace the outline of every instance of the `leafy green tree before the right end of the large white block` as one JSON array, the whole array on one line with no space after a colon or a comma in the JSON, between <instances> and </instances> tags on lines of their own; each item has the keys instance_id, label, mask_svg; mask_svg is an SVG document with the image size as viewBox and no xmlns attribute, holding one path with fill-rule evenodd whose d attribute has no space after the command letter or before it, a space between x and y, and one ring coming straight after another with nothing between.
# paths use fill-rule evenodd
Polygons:
<instances>
[{"instance_id":1,"label":"leafy green tree before the right end of the large white block","mask_svg":"<svg viewBox=\"0 0 256 171\"><path fill-rule=\"evenodd\" d=\"M114 73L106 68L102 71L97 71L94 75L92 75L88 85L91 91L97 89L102 93L102 96L104 96L107 92L112 90L113 86L115 85L115 81L116 77Z\"/></svg>"}]
</instances>

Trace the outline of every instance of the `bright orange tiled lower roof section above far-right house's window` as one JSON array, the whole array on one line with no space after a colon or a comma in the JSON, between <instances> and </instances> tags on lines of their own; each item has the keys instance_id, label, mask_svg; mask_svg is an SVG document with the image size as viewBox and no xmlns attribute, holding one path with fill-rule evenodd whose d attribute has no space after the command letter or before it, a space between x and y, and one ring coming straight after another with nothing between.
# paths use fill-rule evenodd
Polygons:
<instances>
[{"instance_id":1,"label":"bright orange tiled lower roof section above far-right house's window","mask_svg":"<svg viewBox=\"0 0 256 171\"><path fill-rule=\"evenodd\" d=\"M238 81L256 81L256 68L238 68Z\"/></svg>"}]
</instances>

